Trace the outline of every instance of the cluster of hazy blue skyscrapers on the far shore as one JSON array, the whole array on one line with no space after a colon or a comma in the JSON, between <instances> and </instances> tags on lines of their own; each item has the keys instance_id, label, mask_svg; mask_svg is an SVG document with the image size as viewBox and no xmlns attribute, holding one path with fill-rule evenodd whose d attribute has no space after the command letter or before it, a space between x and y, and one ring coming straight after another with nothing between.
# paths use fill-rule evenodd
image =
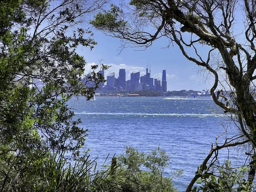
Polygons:
<instances>
[{"instance_id":1,"label":"cluster of hazy blue skyscrapers on the far shore","mask_svg":"<svg viewBox=\"0 0 256 192\"><path fill-rule=\"evenodd\" d=\"M104 70L99 73L104 76ZM110 73L107 76L107 84L99 84L97 91L158 91L167 92L166 70L163 70L162 84L160 79L154 79L150 76L150 70L148 66L146 68L146 75L140 76L140 71L131 73L131 79L126 80L125 69L119 69L119 77L115 77L115 73Z\"/></svg>"}]
</instances>

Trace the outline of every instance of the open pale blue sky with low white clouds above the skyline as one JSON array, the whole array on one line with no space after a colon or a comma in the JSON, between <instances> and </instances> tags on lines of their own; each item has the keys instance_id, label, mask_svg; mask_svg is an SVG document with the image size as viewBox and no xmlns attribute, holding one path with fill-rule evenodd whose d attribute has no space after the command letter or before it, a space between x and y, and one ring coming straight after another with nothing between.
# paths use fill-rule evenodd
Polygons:
<instances>
[{"instance_id":1,"label":"open pale blue sky with low white clouds above the skyline","mask_svg":"<svg viewBox=\"0 0 256 192\"><path fill-rule=\"evenodd\" d=\"M87 61L87 72L90 64L99 64L102 60L103 64L111 65L110 69L105 72L105 77L113 71L118 77L119 69L125 68L126 80L128 80L132 72L140 71L140 76L145 75L147 64L151 64L151 77L153 78L156 76L161 80L162 71L166 70L167 90L203 90L210 88L213 84L212 80L205 81L202 74L198 74L200 68L188 61L177 46L165 48L168 45L166 38L154 41L151 47L143 51L135 50L138 48L125 48L120 52L119 39L106 36L95 29L92 30L93 38L98 44L92 51L84 47L80 53ZM205 47L199 47L199 50L207 56ZM186 51L189 52L189 49Z\"/></svg>"}]
</instances>

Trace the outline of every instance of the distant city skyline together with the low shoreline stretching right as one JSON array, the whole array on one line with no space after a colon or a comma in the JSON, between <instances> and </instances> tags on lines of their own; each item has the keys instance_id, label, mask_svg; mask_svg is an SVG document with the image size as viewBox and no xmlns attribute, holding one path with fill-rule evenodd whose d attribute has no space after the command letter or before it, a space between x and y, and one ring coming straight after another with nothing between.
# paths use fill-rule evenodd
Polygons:
<instances>
[{"instance_id":1,"label":"distant city skyline together with the low shoreline stretching right","mask_svg":"<svg viewBox=\"0 0 256 192\"><path fill-rule=\"evenodd\" d=\"M146 68L146 74L140 76L140 71L131 73L130 80L126 80L125 69L119 69L119 76L116 78L115 73L110 73L106 84L100 83L96 90L96 96L210 96L210 89L205 90L172 90L167 91L166 70L163 70L162 82L160 79L152 78L151 70ZM99 73L105 77L105 71L101 70ZM88 74L82 79L82 82L87 86L94 87L94 81L90 79L91 74ZM151 93L149 93L149 92ZM140 92L140 93L139 93ZM148 92L148 93L142 93ZM153 94L155 93L155 94Z\"/></svg>"}]
</instances>

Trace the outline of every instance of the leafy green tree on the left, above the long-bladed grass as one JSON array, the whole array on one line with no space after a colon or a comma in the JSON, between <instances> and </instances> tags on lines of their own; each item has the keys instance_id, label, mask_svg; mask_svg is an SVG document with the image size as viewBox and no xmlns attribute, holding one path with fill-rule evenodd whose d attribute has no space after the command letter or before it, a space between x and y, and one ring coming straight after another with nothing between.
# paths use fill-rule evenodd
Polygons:
<instances>
[{"instance_id":1,"label":"leafy green tree on the left, above the long-bladed grass","mask_svg":"<svg viewBox=\"0 0 256 192\"><path fill-rule=\"evenodd\" d=\"M96 42L84 38L90 31L78 28L71 32L69 26L77 24L84 8L69 0L55 8L51 3L1 1L0 131L6 150L10 145L33 150L30 144L38 143L37 131L51 149L78 149L86 130L77 126L79 120L72 120L74 114L66 102L72 94L90 99L104 81L93 66L90 80L95 86L81 82L86 62L76 48L93 48Z\"/></svg>"}]
</instances>

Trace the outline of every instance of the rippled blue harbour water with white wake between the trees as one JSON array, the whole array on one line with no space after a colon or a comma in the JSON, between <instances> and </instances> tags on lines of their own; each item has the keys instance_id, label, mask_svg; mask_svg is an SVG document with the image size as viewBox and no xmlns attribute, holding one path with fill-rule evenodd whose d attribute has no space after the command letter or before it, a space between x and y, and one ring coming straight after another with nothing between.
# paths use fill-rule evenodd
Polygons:
<instances>
[{"instance_id":1,"label":"rippled blue harbour water with white wake between the trees","mask_svg":"<svg viewBox=\"0 0 256 192\"><path fill-rule=\"evenodd\" d=\"M69 106L76 109L81 126L89 130L84 148L91 149L89 154L98 157L98 164L108 154L123 154L126 145L147 153L160 146L171 157L165 174L183 169L183 175L174 179L179 191L186 189L215 138L225 132L225 119L229 119L209 97L96 97L91 101L79 97ZM236 134L234 126L229 129L229 135ZM218 139L219 144L223 141L224 137ZM219 151L220 161L228 158L228 152L231 161L241 154Z\"/></svg>"}]
</instances>

